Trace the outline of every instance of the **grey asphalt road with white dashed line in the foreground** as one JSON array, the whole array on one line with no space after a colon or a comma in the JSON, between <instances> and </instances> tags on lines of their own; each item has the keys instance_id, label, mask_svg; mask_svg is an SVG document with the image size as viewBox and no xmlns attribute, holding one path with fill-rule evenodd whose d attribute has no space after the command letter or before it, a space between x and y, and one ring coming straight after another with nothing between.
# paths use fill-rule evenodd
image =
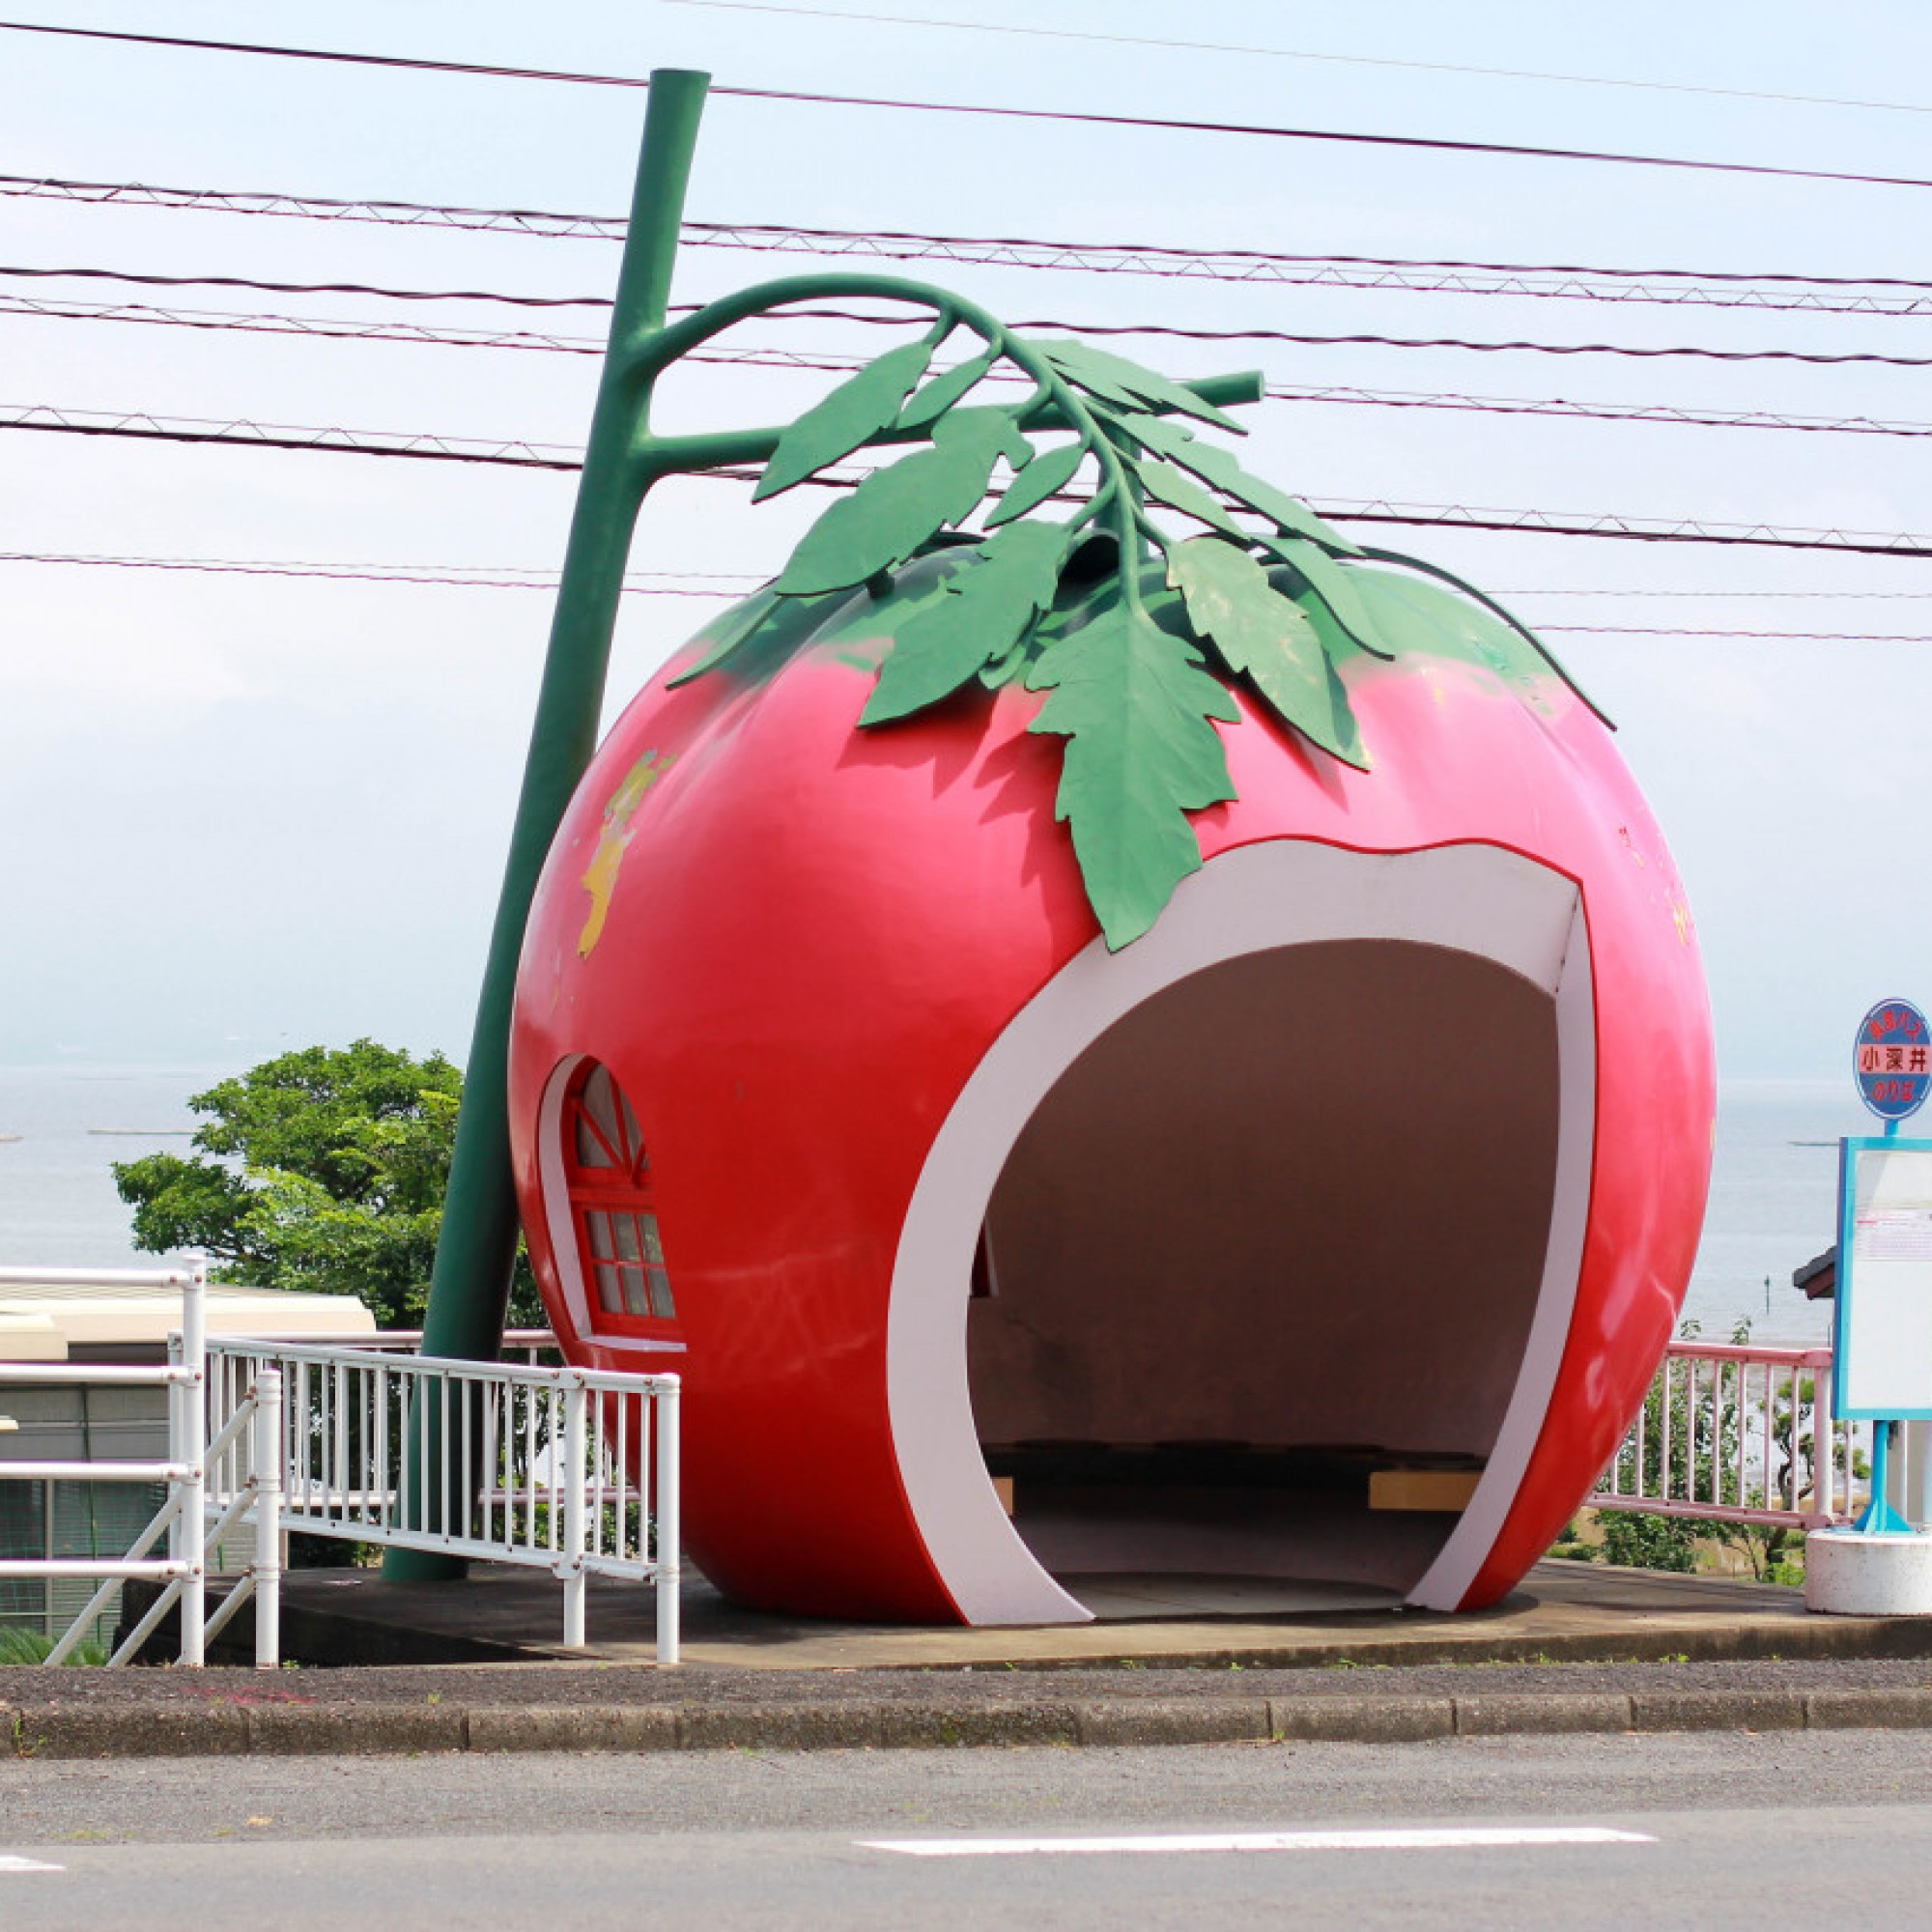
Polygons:
<instances>
[{"instance_id":1,"label":"grey asphalt road with white dashed line in the foreground","mask_svg":"<svg viewBox=\"0 0 1932 1932\"><path fill-rule=\"evenodd\" d=\"M0 1762L6 1932L1822 1917L1932 1920L1926 1733Z\"/></svg>"}]
</instances>

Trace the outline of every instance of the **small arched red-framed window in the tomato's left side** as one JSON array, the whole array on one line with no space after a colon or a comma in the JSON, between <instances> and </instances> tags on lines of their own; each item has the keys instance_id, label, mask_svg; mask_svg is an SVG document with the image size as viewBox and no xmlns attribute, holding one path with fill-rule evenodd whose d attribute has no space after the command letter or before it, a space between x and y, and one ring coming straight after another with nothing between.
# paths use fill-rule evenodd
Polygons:
<instances>
[{"instance_id":1,"label":"small arched red-framed window in the tomato's left side","mask_svg":"<svg viewBox=\"0 0 1932 1932\"><path fill-rule=\"evenodd\" d=\"M611 1068L585 1061L564 1094L564 1182L578 1262L609 1316L672 1321L678 1308L657 1231L651 1155Z\"/></svg>"}]
</instances>

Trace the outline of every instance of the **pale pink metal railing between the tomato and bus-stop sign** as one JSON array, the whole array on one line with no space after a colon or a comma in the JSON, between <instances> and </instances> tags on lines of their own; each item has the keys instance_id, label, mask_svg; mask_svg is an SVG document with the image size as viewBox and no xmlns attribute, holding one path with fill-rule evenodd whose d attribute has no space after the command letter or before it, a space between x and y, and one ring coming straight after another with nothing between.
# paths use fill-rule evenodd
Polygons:
<instances>
[{"instance_id":1,"label":"pale pink metal railing between the tomato and bus-stop sign","mask_svg":"<svg viewBox=\"0 0 1932 1932\"><path fill-rule=\"evenodd\" d=\"M1857 1513L1832 1350L1673 1341L1592 1509L1816 1530Z\"/></svg>"}]
</instances>

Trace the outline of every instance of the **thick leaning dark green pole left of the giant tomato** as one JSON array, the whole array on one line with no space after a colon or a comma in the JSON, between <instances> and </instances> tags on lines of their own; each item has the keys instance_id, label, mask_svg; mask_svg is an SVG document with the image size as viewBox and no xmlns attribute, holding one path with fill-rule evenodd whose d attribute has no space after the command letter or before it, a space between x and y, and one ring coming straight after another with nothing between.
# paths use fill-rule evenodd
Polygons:
<instances>
[{"instance_id":1,"label":"thick leaning dark green pole left of the giant tomato","mask_svg":"<svg viewBox=\"0 0 1932 1932\"><path fill-rule=\"evenodd\" d=\"M551 838L597 748L611 634L616 626L632 529L643 500L645 473L632 460L643 408L636 352L665 327L670 270L684 218L697 122L707 73L659 68L643 118L643 151L630 203L624 265L603 381L591 415L589 446L570 520L564 578L551 620L551 645L537 694L537 715L524 761L524 790L510 833L497 923L491 931L475 1034L464 1074L456 1151L442 1209L442 1235L429 1281L423 1354L493 1360L502 1345L510 1273L516 1264L518 1209L510 1180L510 1001L524 923L537 891ZM431 1439L439 1435L431 1430ZM469 1493L471 1484L456 1493ZM412 1488L431 1492L427 1470L412 1470ZM460 1577L464 1563L419 1549L390 1549L383 1575L431 1582Z\"/></svg>"}]
</instances>

